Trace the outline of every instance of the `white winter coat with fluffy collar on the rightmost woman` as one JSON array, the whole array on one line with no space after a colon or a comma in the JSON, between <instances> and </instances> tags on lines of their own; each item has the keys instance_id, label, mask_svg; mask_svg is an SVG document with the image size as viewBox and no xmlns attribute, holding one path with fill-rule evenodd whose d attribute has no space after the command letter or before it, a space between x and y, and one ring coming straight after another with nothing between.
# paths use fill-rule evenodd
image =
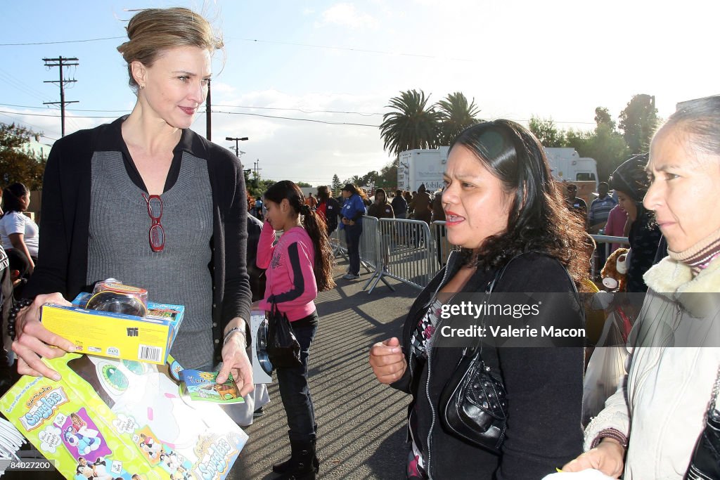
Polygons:
<instances>
[{"instance_id":1,"label":"white winter coat with fluffy collar on the rightmost woman","mask_svg":"<svg viewBox=\"0 0 720 480\"><path fill-rule=\"evenodd\" d=\"M629 438L625 480L682 479L720 365L720 258L695 278L665 258L644 280L649 290L628 342L626 385L588 425L585 450L614 428Z\"/></svg>"}]
</instances>

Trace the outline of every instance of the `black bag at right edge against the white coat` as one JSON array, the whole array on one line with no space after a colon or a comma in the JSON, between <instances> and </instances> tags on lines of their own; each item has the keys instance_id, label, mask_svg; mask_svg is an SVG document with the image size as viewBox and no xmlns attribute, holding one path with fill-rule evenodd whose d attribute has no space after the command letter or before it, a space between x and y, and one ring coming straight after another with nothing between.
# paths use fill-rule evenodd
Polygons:
<instances>
[{"instance_id":1,"label":"black bag at right edge against the white coat","mask_svg":"<svg viewBox=\"0 0 720 480\"><path fill-rule=\"evenodd\" d=\"M705 429L695 445L685 480L720 479L720 412L715 409L719 390L720 369L715 379Z\"/></svg>"}]
</instances>

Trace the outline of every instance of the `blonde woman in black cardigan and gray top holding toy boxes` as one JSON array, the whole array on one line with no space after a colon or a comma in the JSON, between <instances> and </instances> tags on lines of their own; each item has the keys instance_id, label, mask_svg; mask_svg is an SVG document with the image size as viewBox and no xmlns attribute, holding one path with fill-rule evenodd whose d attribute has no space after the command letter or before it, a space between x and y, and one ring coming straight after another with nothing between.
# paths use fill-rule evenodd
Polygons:
<instances>
[{"instance_id":1,"label":"blonde woman in black cardigan and gray top holding toy boxes","mask_svg":"<svg viewBox=\"0 0 720 480\"><path fill-rule=\"evenodd\" d=\"M18 371L58 380L41 357L76 348L42 326L40 307L68 305L113 277L159 302L183 304L171 354L199 370L222 361L217 381L232 373L244 396L253 381L243 170L228 149L189 128L222 40L207 19L184 8L141 10L126 30L118 51L135 108L63 137L50 151L40 256L14 325Z\"/></svg>"}]
</instances>

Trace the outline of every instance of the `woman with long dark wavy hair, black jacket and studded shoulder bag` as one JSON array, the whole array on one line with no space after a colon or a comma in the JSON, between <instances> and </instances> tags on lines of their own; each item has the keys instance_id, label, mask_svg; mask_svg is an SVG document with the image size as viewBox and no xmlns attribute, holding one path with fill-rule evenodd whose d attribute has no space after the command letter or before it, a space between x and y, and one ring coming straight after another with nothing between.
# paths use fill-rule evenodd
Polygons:
<instances>
[{"instance_id":1,"label":"woman with long dark wavy hair, black jacket and studded shoulder bag","mask_svg":"<svg viewBox=\"0 0 720 480\"><path fill-rule=\"evenodd\" d=\"M547 348L547 338L524 338L513 339L521 348L484 345L482 359L507 392L500 453L466 443L447 428L440 398L463 349L436 345L447 340L449 327L459 326L452 307L462 296L454 298L456 292L487 291L503 269L488 302L512 292L544 294L546 302L538 304L538 314L515 320L480 317L486 325L582 331L574 284L589 265L583 232L564 215L540 143L514 122L484 122L462 132L451 145L444 177L447 235L462 251L450 255L415 301L402 340L373 345L370 363L379 381L413 395L408 478L540 479L582 448L581 343L554 338L555 345L572 346Z\"/></svg>"}]
</instances>

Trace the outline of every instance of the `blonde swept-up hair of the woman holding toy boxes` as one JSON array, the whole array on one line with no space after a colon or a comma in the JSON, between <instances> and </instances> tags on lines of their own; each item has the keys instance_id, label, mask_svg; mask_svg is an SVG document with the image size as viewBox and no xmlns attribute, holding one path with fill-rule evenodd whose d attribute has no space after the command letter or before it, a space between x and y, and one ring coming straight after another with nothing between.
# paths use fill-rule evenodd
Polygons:
<instances>
[{"instance_id":1,"label":"blonde swept-up hair of the woman holding toy boxes","mask_svg":"<svg viewBox=\"0 0 720 480\"><path fill-rule=\"evenodd\" d=\"M132 78L132 62L150 67L164 50L190 46L213 53L224 45L220 33L212 30L207 19L181 7L145 9L130 19L126 30L130 40L117 47L117 51L127 62L130 88L135 91L138 83Z\"/></svg>"}]
</instances>

